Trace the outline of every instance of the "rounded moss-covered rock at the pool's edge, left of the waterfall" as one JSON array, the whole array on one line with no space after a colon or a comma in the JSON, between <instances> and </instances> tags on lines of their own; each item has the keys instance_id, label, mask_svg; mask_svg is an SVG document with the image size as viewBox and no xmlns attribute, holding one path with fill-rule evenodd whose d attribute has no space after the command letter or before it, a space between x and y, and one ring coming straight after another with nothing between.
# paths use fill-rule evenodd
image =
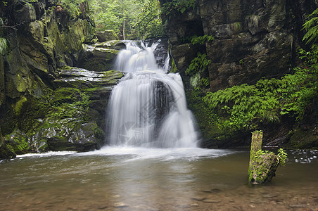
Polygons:
<instances>
[{"instance_id":1,"label":"rounded moss-covered rock at the pool's edge, left of the waterfall","mask_svg":"<svg viewBox=\"0 0 318 211\"><path fill-rule=\"evenodd\" d=\"M91 151L103 142L101 129L79 103L53 106L42 122L32 136L38 150L47 144L44 149L51 151Z\"/></svg>"}]
</instances>

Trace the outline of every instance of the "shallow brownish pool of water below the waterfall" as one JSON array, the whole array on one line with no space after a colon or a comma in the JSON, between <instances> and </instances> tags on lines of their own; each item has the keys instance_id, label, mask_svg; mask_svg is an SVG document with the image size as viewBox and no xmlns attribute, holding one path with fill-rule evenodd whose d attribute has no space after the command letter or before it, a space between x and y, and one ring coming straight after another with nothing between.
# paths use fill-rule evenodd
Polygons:
<instances>
[{"instance_id":1,"label":"shallow brownish pool of water below the waterfall","mask_svg":"<svg viewBox=\"0 0 318 211\"><path fill-rule=\"evenodd\" d=\"M266 186L248 151L107 147L0 162L0 210L318 210L318 151L288 151Z\"/></svg>"}]
</instances>

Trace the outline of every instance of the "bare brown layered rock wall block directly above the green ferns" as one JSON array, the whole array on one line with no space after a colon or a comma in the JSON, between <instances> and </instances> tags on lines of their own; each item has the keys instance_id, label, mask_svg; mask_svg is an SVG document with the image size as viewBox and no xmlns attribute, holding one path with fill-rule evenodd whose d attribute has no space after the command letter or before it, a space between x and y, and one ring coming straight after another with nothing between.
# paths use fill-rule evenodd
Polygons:
<instances>
[{"instance_id":1,"label":"bare brown layered rock wall block directly above the green ferns","mask_svg":"<svg viewBox=\"0 0 318 211\"><path fill-rule=\"evenodd\" d=\"M284 29L286 1L200 1L210 89L217 91L291 68L293 36Z\"/></svg>"}]
</instances>

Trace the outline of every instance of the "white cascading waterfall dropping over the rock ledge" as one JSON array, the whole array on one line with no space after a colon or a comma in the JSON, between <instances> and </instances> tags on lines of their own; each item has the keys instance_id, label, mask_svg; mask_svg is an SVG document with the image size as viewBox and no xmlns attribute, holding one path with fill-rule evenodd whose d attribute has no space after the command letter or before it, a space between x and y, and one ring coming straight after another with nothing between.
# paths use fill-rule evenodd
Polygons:
<instances>
[{"instance_id":1,"label":"white cascading waterfall dropping over the rock ledge","mask_svg":"<svg viewBox=\"0 0 318 211\"><path fill-rule=\"evenodd\" d=\"M158 68L153 50L133 42L120 51L115 69L127 72L108 105L111 145L196 147L197 134L179 74Z\"/></svg>"}]
</instances>

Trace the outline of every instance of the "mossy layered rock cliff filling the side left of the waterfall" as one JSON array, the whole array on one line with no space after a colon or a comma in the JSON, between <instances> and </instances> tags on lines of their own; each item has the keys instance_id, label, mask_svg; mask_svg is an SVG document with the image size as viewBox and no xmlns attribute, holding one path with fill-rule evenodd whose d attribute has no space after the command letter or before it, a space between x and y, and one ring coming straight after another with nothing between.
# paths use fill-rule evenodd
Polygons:
<instances>
[{"instance_id":1,"label":"mossy layered rock cliff filling the side left of the waterfall","mask_svg":"<svg viewBox=\"0 0 318 211\"><path fill-rule=\"evenodd\" d=\"M56 0L8 1L0 15L8 40L0 56L0 158L98 148L107 96L122 74L106 72L109 64L87 65L100 72L70 68L85 63L97 41L87 1L73 12ZM117 49L98 52L101 60L113 60Z\"/></svg>"}]
</instances>

